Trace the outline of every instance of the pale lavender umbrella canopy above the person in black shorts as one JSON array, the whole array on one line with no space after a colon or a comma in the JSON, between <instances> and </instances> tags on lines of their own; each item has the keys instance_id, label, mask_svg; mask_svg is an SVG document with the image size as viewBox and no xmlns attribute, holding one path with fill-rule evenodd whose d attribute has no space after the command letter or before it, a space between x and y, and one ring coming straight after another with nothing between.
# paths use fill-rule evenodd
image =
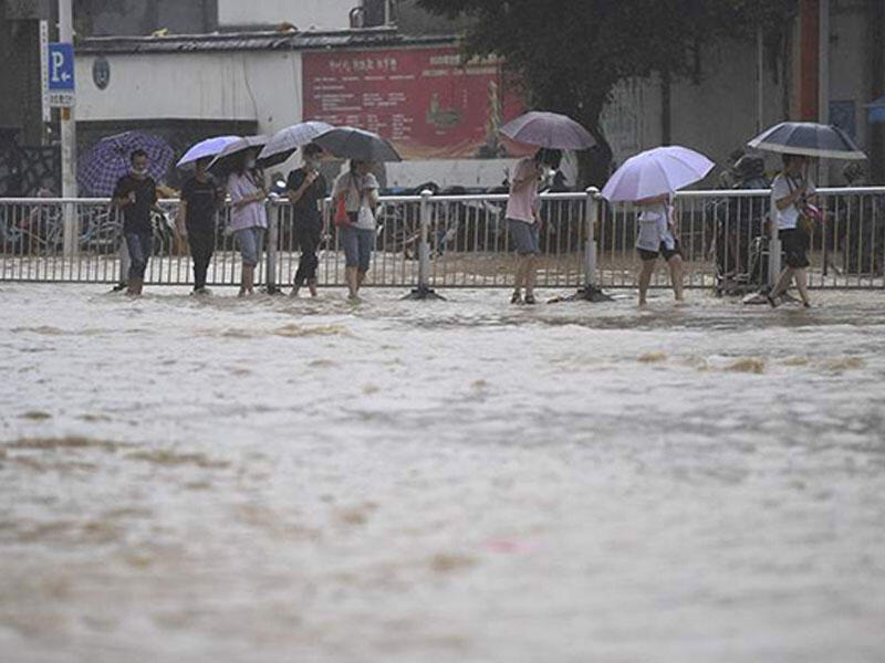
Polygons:
<instances>
[{"instance_id":1,"label":"pale lavender umbrella canopy above the person in black shorts","mask_svg":"<svg viewBox=\"0 0 885 663\"><path fill-rule=\"evenodd\" d=\"M707 157L686 147L656 147L624 161L608 178L602 196L617 202L673 193L702 180L714 166Z\"/></svg>"}]
</instances>

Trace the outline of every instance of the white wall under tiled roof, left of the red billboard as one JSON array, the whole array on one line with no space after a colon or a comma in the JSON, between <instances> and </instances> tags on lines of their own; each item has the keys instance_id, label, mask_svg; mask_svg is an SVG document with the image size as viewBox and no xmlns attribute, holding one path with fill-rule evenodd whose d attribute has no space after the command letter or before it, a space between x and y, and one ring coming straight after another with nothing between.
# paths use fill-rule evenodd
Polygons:
<instances>
[{"instance_id":1,"label":"white wall under tiled roof, left of the red billboard","mask_svg":"<svg viewBox=\"0 0 885 663\"><path fill-rule=\"evenodd\" d=\"M152 53L110 55L110 84L76 60L79 120L239 119L271 134L301 120L301 54Z\"/></svg>"}]
</instances>

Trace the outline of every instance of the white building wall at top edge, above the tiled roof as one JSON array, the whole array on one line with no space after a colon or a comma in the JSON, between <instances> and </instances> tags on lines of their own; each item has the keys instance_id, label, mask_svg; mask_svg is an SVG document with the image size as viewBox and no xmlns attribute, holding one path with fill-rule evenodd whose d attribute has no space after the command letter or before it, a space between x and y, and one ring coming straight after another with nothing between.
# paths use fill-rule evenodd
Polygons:
<instances>
[{"instance_id":1,"label":"white building wall at top edge, above the tiled roof","mask_svg":"<svg viewBox=\"0 0 885 663\"><path fill-rule=\"evenodd\" d=\"M218 0L220 25L273 25L299 30L345 30L350 11L362 0Z\"/></svg>"}]
</instances>

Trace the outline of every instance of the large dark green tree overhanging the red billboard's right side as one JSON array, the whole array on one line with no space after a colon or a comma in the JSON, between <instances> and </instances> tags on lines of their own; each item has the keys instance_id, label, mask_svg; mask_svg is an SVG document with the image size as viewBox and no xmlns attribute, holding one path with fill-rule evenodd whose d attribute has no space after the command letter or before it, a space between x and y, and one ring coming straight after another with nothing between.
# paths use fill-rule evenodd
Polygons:
<instances>
[{"instance_id":1,"label":"large dark green tree overhanging the red billboard's right side","mask_svg":"<svg viewBox=\"0 0 885 663\"><path fill-rule=\"evenodd\" d=\"M418 0L449 18L467 17L465 54L497 53L525 88L530 107L565 113L600 149L582 155L582 179L601 185L611 149L600 115L615 85L658 73L697 77L705 44L783 39L798 0ZM777 49L774 49L777 52Z\"/></svg>"}]
</instances>

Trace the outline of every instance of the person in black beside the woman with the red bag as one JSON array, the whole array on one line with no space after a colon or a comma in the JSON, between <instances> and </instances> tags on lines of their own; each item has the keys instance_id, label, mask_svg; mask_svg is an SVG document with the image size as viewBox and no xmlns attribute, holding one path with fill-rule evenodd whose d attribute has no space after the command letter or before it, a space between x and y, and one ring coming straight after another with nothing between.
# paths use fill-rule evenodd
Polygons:
<instances>
[{"instance_id":1,"label":"person in black beside the woman with the red bag","mask_svg":"<svg viewBox=\"0 0 885 663\"><path fill-rule=\"evenodd\" d=\"M323 148L310 143L302 148L303 165L289 173L285 194L292 203L294 217L295 242L301 248L292 296L308 284L311 296L316 296L316 249L323 232L323 219L320 206L326 196L326 181L320 172L320 157Z\"/></svg>"}]
</instances>

